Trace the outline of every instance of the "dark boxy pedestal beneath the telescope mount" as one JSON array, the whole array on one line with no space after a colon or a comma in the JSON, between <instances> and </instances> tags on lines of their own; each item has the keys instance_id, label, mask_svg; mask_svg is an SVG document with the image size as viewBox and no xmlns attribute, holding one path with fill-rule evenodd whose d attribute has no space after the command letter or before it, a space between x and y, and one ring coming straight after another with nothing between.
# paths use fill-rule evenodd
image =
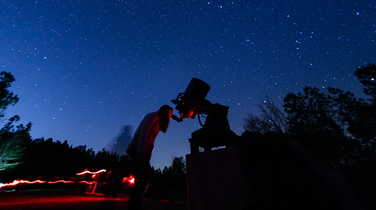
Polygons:
<instances>
[{"instance_id":1,"label":"dark boxy pedestal beneath the telescope mount","mask_svg":"<svg viewBox=\"0 0 376 210\"><path fill-rule=\"evenodd\" d=\"M187 154L188 210L243 209L255 202L235 147Z\"/></svg>"}]
</instances>

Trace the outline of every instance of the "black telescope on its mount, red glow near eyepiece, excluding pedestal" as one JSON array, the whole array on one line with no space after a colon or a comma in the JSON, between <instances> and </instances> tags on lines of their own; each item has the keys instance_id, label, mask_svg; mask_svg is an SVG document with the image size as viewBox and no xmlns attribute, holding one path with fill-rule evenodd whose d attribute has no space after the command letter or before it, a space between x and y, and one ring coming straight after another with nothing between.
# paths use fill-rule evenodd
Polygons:
<instances>
[{"instance_id":1,"label":"black telescope on its mount, red glow near eyepiece, excluding pedestal","mask_svg":"<svg viewBox=\"0 0 376 210\"><path fill-rule=\"evenodd\" d=\"M229 107L212 104L206 100L210 86L202 80L192 78L184 93L179 93L176 99L171 100L176 105L175 109L179 111L180 117L172 116L177 122L183 121L184 118L193 120L196 115L199 118L201 129L192 133L191 153L198 153L199 147L205 151L211 150L213 147L234 145L234 139L237 135L230 130L227 113ZM206 118L203 124L200 115Z\"/></svg>"}]
</instances>

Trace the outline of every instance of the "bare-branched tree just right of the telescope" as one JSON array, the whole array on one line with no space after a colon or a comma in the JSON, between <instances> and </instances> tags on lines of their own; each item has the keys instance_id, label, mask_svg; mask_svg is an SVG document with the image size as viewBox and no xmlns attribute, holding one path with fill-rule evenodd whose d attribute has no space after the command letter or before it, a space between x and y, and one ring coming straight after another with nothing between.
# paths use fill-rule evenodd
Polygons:
<instances>
[{"instance_id":1,"label":"bare-branched tree just right of the telescope","mask_svg":"<svg viewBox=\"0 0 376 210\"><path fill-rule=\"evenodd\" d=\"M269 131L288 133L287 114L273 104L268 96L262 101L262 103L256 104L261 109L261 116L247 113L247 117L244 118L244 129L262 134Z\"/></svg>"}]
</instances>

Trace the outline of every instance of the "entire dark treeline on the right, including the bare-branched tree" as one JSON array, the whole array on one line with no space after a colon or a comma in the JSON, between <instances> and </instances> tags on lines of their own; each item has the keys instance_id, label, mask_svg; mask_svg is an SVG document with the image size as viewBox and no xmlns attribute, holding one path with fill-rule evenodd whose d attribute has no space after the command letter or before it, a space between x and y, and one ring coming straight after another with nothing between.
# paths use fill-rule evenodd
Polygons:
<instances>
[{"instance_id":1,"label":"entire dark treeline on the right, including the bare-branched tree","mask_svg":"<svg viewBox=\"0 0 376 210\"><path fill-rule=\"evenodd\" d=\"M341 171L365 208L376 196L376 65L356 69L366 99L349 91L305 87L288 93L284 110L266 98L261 115L249 113L244 128L298 141L322 170Z\"/></svg>"}]
</instances>

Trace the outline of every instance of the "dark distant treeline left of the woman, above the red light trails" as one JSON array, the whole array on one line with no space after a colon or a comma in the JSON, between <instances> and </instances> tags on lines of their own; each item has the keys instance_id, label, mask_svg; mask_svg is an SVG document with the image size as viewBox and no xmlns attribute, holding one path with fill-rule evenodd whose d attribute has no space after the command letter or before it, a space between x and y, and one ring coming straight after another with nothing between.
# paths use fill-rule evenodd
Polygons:
<instances>
[{"instance_id":1,"label":"dark distant treeline left of the woman, above the red light trails","mask_svg":"<svg viewBox=\"0 0 376 210\"><path fill-rule=\"evenodd\" d=\"M82 172L84 168L111 170L121 168L124 175L130 175L131 163L128 156L119 156L103 148L97 153L86 145L73 147L67 141L53 141L52 138L28 139L22 144L23 156L18 166L2 172L7 180L35 178L41 174L68 179ZM3 177L5 178L5 177Z\"/></svg>"}]
</instances>

